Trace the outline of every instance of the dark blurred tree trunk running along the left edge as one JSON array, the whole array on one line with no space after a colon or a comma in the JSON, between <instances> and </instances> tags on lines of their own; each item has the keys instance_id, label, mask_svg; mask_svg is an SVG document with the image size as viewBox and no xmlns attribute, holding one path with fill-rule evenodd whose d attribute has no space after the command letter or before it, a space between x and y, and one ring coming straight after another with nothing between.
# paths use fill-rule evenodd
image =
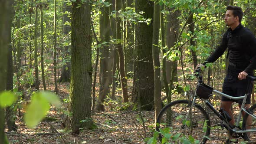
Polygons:
<instances>
[{"instance_id":1,"label":"dark blurred tree trunk running along the left edge","mask_svg":"<svg viewBox=\"0 0 256 144\"><path fill-rule=\"evenodd\" d=\"M13 0L0 0L0 93L6 89L7 82L7 54L10 48L11 19ZM4 133L4 109L0 107L0 144L8 144Z\"/></svg>"}]
</instances>

